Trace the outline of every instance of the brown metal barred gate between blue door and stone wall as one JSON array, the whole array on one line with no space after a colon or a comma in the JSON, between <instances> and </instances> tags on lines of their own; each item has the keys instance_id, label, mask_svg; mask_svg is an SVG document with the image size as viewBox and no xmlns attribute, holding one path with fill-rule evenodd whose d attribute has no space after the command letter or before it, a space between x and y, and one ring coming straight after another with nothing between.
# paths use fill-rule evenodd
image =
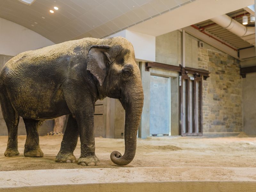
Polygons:
<instances>
[{"instance_id":1,"label":"brown metal barred gate between blue door and stone wall","mask_svg":"<svg viewBox=\"0 0 256 192\"><path fill-rule=\"evenodd\" d=\"M202 77L182 74L180 86L180 135L203 135Z\"/></svg>"}]
</instances>

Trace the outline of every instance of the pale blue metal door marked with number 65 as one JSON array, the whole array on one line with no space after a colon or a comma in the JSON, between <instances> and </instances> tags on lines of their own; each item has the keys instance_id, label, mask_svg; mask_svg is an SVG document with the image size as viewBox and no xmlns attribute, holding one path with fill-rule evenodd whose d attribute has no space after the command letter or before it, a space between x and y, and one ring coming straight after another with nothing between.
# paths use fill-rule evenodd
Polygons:
<instances>
[{"instance_id":1,"label":"pale blue metal door marked with number 65","mask_svg":"<svg viewBox=\"0 0 256 192\"><path fill-rule=\"evenodd\" d=\"M170 78L150 76L150 135L170 135Z\"/></svg>"}]
</instances>

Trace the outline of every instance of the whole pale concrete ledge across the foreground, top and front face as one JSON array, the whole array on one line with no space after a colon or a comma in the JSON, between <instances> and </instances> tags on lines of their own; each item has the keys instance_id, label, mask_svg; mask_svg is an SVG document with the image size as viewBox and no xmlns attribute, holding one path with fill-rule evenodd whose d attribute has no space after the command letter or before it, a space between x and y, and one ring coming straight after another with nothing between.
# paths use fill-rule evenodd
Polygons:
<instances>
[{"instance_id":1,"label":"whole pale concrete ledge across the foreground, top and front face","mask_svg":"<svg viewBox=\"0 0 256 192\"><path fill-rule=\"evenodd\" d=\"M254 192L256 168L116 167L0 172L0 191Z\"/></svg>"}]
</instances>

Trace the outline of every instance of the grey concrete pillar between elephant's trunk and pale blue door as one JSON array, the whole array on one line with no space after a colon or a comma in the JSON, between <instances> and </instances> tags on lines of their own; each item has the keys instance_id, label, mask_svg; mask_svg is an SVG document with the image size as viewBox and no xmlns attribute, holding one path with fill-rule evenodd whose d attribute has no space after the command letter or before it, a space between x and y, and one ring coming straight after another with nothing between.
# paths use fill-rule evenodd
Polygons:
<instances>
[{"instance_id":1,"label":"grey concrete pillar between elephant's trunk and pale blue door","mask_svg":"<svg viewBox=\"0 0 256 192\"><path fill-rule=\"evenodd\" d=\"M145 71L145 62L140 62L139 67L144 92L144 105L139 126L139 137L146 139L149 136L150 72Z\"/></svg>"}]
</instances>

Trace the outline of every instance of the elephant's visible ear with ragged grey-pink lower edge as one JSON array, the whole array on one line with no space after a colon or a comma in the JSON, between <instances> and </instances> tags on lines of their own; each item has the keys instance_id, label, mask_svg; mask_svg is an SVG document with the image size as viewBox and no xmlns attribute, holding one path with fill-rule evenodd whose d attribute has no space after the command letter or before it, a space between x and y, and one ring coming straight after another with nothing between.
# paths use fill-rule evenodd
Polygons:
<instances>
[{"instance_id":1,"label":"elephant's visible ear with ragged grey-pink lower edge","mask_svg":"<svg viewBox=\"0 0 256 192\"><path fill-rule=\"evenodd\" d=\"M102 86L107 73L109 45L92 45L89 49L87 70L94 75Z\"/></svg>"}]
</instances>

